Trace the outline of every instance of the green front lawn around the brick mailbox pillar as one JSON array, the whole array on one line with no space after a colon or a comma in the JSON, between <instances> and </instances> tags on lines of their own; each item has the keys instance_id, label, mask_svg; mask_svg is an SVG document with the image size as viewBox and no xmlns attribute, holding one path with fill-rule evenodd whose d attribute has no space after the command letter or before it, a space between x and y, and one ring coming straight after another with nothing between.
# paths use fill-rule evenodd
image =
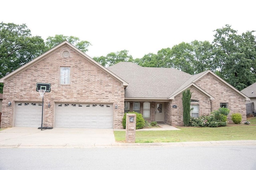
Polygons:
<instances>
[{"instance_id":1,"label":"green front lawn around the brick mailbox pillar","mask_svg":"<svg viewBox=\"0 0 256 170\"><path fill-rule=\"evenodd\" d=\"M256 140L256 117L250 125L226 127L180 127L180 131L136 131L136 143ZM117 142L125 142L125 131L114 131Z\"/></svg>"}]
</instances>

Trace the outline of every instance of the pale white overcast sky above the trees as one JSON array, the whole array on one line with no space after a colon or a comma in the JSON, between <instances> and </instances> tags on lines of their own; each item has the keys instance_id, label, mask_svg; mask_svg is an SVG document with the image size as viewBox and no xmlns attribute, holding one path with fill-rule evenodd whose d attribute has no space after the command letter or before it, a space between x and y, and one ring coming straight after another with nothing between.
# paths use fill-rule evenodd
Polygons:
<instances>
[{"instance_id":1,"label":"pale white overcast sky above the trees","mask_svg":"<svg viewBox=\"0 0 256 170\"><path fill-rule=\"evenodd\" d=\"M32 35L76 36L92 43L87 55L128 50L135 58L193 40L212 41L214 30L232 25L256 30L252 0L10 0L0 22L26 23Z\"/></svg>"}]
</instances>

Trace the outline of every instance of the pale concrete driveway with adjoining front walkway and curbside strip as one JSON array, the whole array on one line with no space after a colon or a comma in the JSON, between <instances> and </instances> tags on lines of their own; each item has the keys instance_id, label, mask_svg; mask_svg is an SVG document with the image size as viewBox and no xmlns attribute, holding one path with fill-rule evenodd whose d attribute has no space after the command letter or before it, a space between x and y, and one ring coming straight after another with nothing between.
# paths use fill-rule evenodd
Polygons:
<instances>
[{"instance_id":1,"label":"pale concrete driveway with adjoining front walkway and curbside strip","mask_svg":"<svg viewBox=\"0 0 256 170\"><path fill-rule=\"evenodd\" d=\"M161 128L136 131L179 130L167 124ZM116 129L53 128L42 130L36 127L12 127L0 131L0 148L88 148L88 147L165 147L206 145L256 145L252 141L204 141L176 143L117 143ZM125 129L118 129L125 130Z\"/></svg>"}]
</instances>

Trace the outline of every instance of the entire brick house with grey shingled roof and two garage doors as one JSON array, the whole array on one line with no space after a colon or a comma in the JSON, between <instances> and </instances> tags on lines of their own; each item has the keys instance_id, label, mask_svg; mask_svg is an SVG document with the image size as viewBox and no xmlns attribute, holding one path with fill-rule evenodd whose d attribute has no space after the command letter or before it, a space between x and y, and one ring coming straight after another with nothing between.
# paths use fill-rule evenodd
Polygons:
<instances>
[{"instance_id":1,"label":"entire brick house with grey shingled roof and two garage doors","mask_svg":"<svg viewBox=\"0 0 256 170\"><path fill-rule=\"evenodd\" d=\"M1 127L40 127L42 98L36 83L51 84L51 92L44 95L43 115L49 127L121 129L128 111L142 113L147 121L183 125L182 92L188 88L192 116L228 107L230 115L241 113L246 121L249 100L211 71L192 76L129 62L105 68L67 41L0 82L4 83Z\"/></svg>"}]
</instances>

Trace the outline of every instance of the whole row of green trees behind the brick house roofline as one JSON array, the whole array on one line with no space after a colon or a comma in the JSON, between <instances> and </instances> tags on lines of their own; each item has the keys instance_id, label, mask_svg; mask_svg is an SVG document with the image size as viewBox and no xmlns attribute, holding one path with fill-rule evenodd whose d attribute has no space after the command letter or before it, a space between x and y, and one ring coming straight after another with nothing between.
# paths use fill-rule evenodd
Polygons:
<instances>
[{"instance_id":1,"label":"whole row of green trees behind the brick house roofline","mask_svg":"<svg viewBox=\"0 0 256 170\"><path fill-rule=\"evenodd\" d=\"M134 62L144 67L176 68L189 74L212 70L238 90L256 82L256 36L254 31L238 34L230 25L214 30L214 41L182 42L133 59L128 50L93 59L105 67ZM11 72L63 41L86 53L91 45L78 37L55 35L46 41L32 36L25 24L0 23L0 74ZM1 89L0 89L1 92Z\"/></svg>"}]
</instances>

